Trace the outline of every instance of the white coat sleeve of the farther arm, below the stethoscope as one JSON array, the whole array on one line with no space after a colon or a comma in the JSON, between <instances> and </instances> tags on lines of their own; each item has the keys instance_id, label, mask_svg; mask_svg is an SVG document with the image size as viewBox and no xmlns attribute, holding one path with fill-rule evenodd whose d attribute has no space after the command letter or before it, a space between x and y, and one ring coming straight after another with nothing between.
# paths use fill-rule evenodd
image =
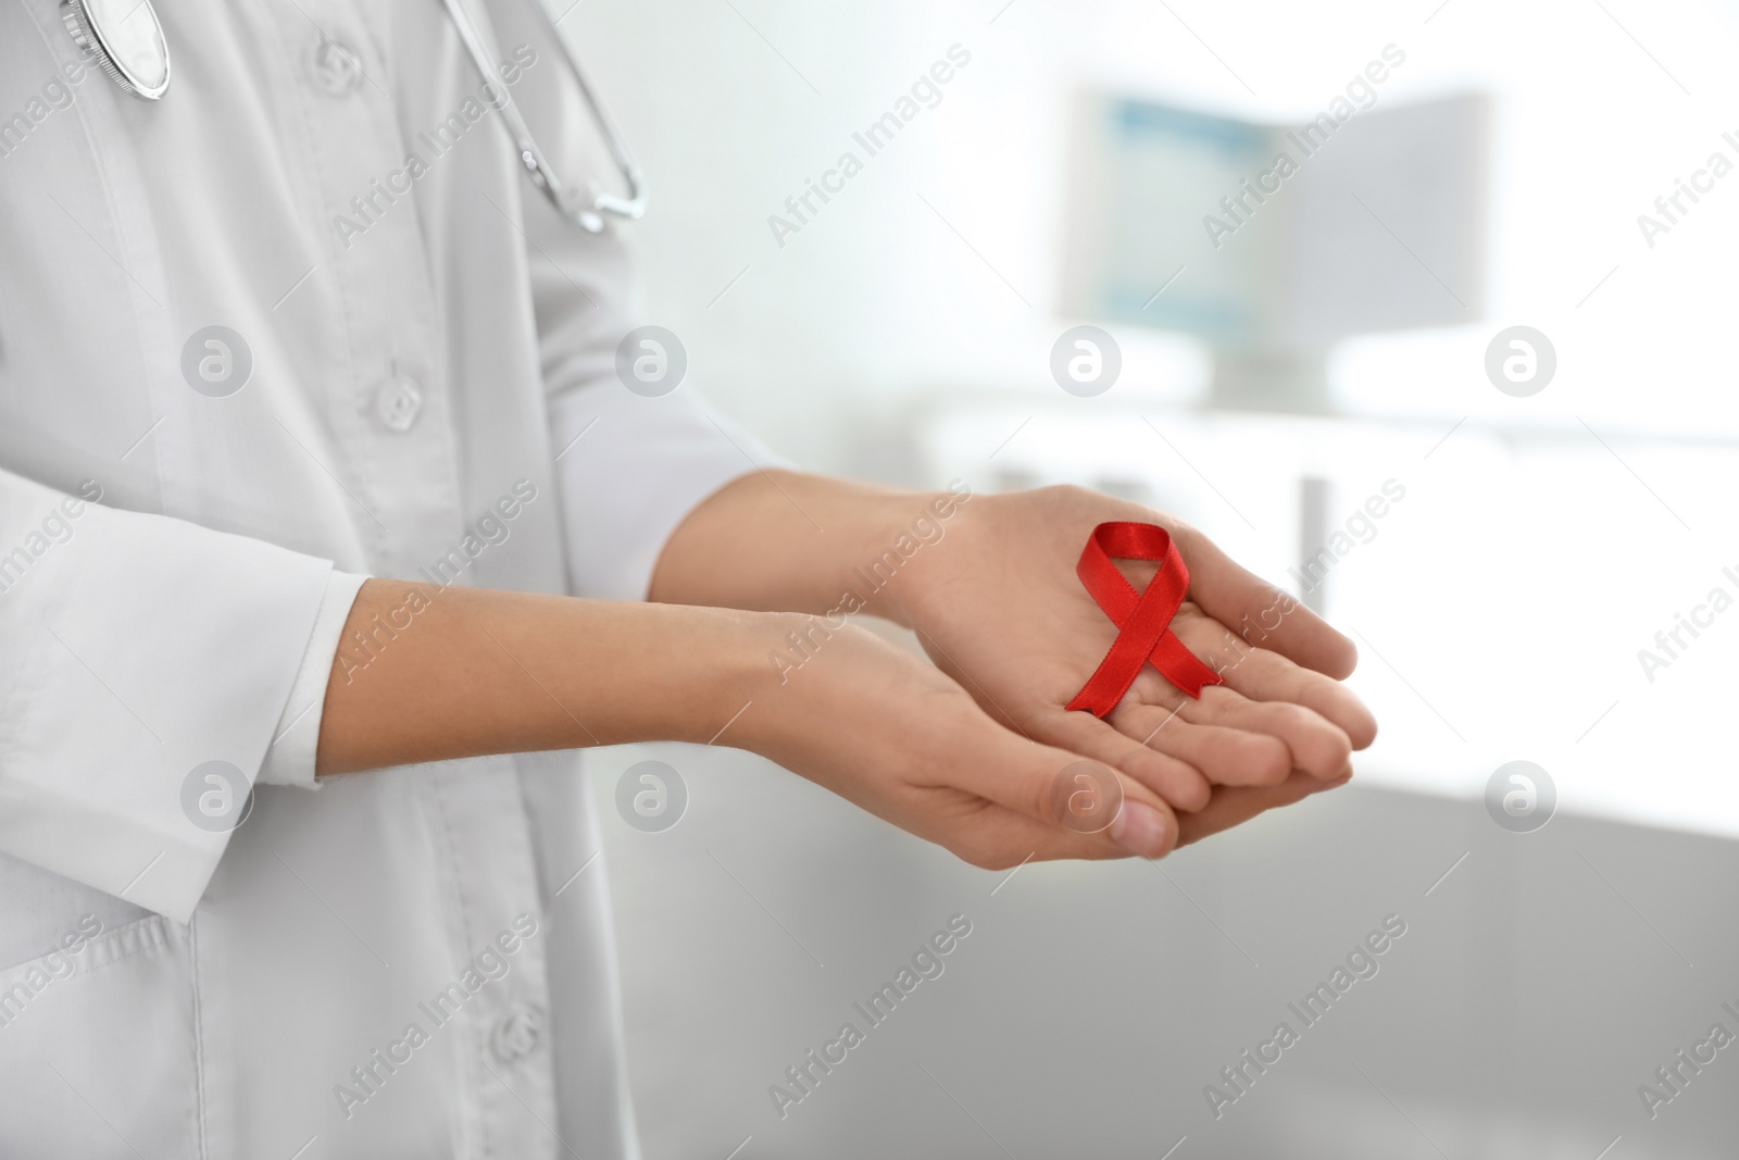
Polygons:
<instances>
[{"instance_id":1,"label":"white coat sleeve of the farther arm, below the stethoscope","mask_svg":"<svg viewBox=\"0 0 1739 1160\"><path fill-rule=\"evenodd\" d=\"M750 471L788 464L696 393L703 367L692 350L673 391L630 391L616 350L649 320L623 238L560 219L530 186L522 203L569 590L645 600L659 551L701 501Z\"/></svg>"}]
</instances>

